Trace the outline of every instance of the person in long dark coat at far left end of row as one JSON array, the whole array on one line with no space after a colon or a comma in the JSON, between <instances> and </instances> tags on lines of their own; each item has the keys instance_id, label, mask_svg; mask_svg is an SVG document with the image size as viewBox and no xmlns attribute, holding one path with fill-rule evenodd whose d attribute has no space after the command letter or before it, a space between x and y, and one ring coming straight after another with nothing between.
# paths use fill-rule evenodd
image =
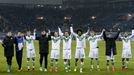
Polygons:
<instances>
[{"instance_id":1,"label":"person in long dark coat at far left end of row","mask_svg":"<svg viewBox=\"0 0 134 75\"><path fill-rule=\"evenodd\" d=\"M14 56L14 37L11 32L7 33L4 38L2 46L4 47L4 56L6 57L8 64L8 71L11 72L12 57Z\"/></svg>"}]
</instances>

